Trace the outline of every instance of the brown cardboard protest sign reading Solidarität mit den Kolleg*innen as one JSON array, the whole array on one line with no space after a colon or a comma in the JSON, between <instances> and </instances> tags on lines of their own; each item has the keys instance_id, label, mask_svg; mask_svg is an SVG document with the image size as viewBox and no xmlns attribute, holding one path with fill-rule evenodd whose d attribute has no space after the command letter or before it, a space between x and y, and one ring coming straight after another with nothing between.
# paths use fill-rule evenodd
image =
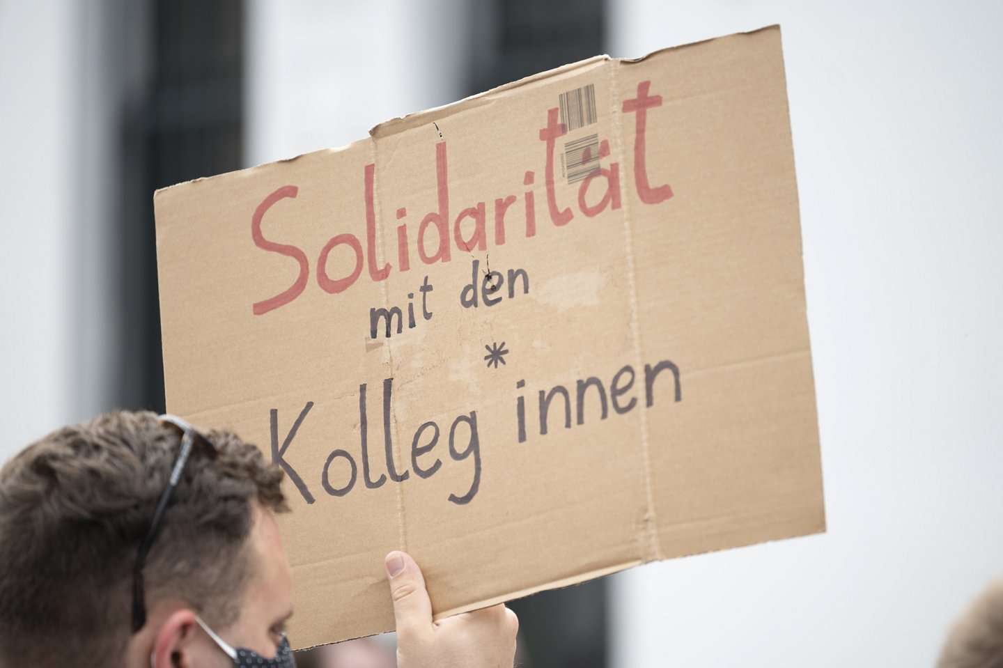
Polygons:
<instances>
[{"instance_id":1,"label":"brown cardboard protest sign reading Solidarit\u00e4t mit den Kolleg*innen","mask_svg":"<svg viewBox=\"0 0 1003 668\"><path fill-rule=\"evenodd\" d=\"M300 647L393 627L394 549L441 616L824 531L776 26L568 65L155 208L169 409L302 479L280 520Z\"/></svg>"}]
</instances>

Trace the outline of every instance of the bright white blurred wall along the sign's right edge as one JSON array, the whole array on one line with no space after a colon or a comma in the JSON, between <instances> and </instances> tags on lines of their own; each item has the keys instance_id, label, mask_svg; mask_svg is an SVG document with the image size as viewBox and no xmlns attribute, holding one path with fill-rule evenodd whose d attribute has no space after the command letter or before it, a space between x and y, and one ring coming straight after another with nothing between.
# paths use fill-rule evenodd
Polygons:
<instances>
[{"instance_id":1,"label":"bright white blurred wall along the sign's right edge","mask_svg":"<svg viewBox=\"0 0 1003 668\"><path fill-rule=\"evenodd\" d=\"M782 26L828 532L613 578L613 665L924 666L1003 573L1003 5L610 0Z\"/></svg>"}]
</instances>

